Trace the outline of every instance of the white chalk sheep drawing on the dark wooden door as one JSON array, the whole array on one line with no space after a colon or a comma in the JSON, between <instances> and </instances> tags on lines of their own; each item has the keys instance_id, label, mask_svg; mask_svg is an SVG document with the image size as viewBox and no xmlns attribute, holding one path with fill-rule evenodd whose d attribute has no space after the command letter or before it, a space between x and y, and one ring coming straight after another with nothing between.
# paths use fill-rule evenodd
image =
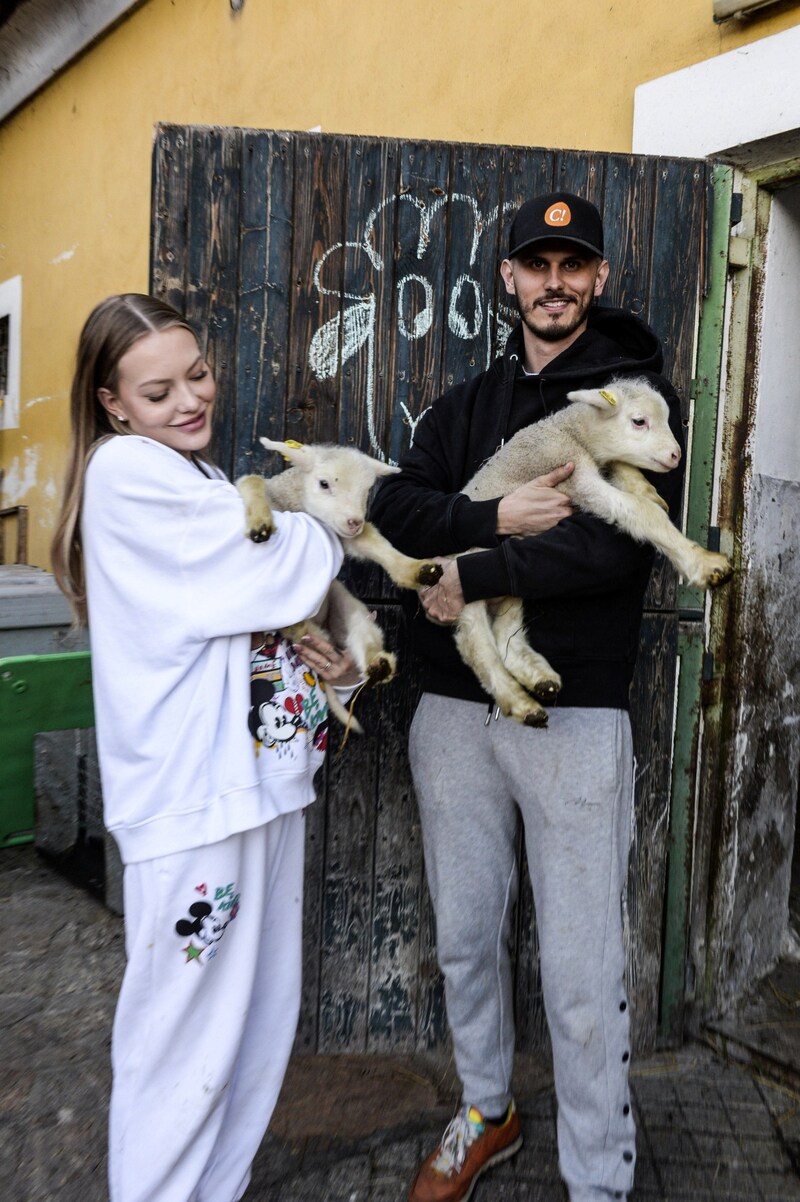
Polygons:
<instances>
[{"instance_id":1,"label":"white chalk sheep drawing on the dark wooden door","mask_svg":"<svg viewBox=\"0 0 800 1202\"><path fill-rule=\"evenodd\" d=\"M324 322L311 339L309 347L309 367L317 380L332 380L340 368L357 355L366 356L365 364L365 392L364 407L366 413L368 436L371 450L381 459L387 456L380 445L375 430L375 338L377 326L377 297L375 292L363 293L348 291L346 268L350 262L350 254L366 255L372 270L382 273L386 269L383 257L376 249L375 227L383 210L395 204L411 204L417 210L416 246L411 249L412 256L417 260L418 269L407 272L395 282L396 304L396 328L400 337L408 341L417 341L423 338L436 337L435 316L441 311L437 304L437 286L441 280L432 279L425 272L425 261L430 263L431 242L436 236L444 234L443 221L436 222L437 215L450 206L464 204L468 208L472 218L472 239L470 244L470 272L462 272L449 288L449 297L444 307L447 325L455 338L464 341L474 343L480 335L484 365L489 367L495 353L500 353L506 345L506 339L511 333L515 320L514 310L508 305L498 305L497 309L491 303L491 294L485 296L486 285L494 286L494 280L485 281L474 274L480 239L490 236L495 237L497 220L505 221L506 216L515 209L512 202L506 203L502 210L495 206L484 216L480 213L478 202L473 196L462 192L454 192L452 196L437 197L430 204L410 192L400 192L395 196L387 196L366 216L360 238L357 242L338 242L328 246L320 256L314 267L314 286L321 297L336 297L345 302L342 309L334 317ZM324 282L326 270L333 270L332 260L339 260L344 255L344 267L341 261L336 262L339 278L344 276L341 287L329 287ZM432 264L431 264L432 268ZM412 307L411 298L418 291L422 303ZM408 315L413 308L413 319ZM405 401L400 403L404 422L411 429L411 441L413 442L414 430L423 412L412 413Z\"/></svg>"}]
</instances>

